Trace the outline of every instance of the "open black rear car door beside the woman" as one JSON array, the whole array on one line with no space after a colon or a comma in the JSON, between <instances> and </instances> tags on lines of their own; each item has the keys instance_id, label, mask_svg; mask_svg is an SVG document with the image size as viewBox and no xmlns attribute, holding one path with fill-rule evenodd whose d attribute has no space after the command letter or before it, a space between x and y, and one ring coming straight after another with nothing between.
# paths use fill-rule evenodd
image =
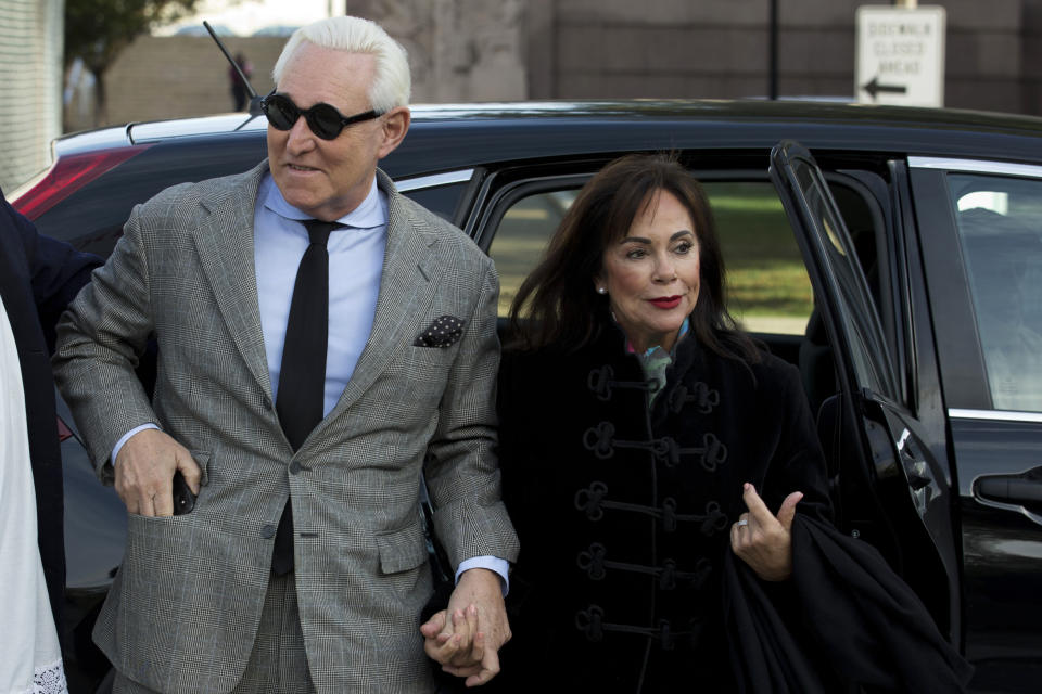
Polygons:
<instances>
[{"instance_id":1,"label":"open black rear car door beside the woman","mask_svg":"<svg viewBox=\"0 0 1042 694\"><path fill-rule=\"evenodd\" d=\"M825 177L799 143L771 153L778 190L806 262L824 321L838 393L818 412L840 530L880 550L916 591L942 633L958 645L960 563L948 457L926 444L926 426L898 373L854 242ZM900 244L892 244L892 248ZM900 250L895 250L900 253ZM798 561L798 560L797 560Z\"/></svg>"}]
</instances>

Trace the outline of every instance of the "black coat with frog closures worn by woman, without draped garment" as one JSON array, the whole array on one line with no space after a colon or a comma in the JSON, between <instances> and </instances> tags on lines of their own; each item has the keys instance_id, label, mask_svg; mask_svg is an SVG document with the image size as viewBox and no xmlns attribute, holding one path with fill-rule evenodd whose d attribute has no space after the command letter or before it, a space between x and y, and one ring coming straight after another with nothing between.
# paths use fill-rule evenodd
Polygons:
<instances>
[{"instance_id":1,"label":"black coat with frog closures worn by woman, without draped garment","mask_svg":"<svg viewBox=\"0 0 1042 694\"><path fill-rule=\"evenodd\" d=\"M504 500L523 547L504 681L733 689L721 577L742 484L773 511L802 491L799 512L827 520L824 459L791 365L723 358L688 335L650 409L648 394L614 329L573 354L504 355Z\"/></svg>"}]
</instances>

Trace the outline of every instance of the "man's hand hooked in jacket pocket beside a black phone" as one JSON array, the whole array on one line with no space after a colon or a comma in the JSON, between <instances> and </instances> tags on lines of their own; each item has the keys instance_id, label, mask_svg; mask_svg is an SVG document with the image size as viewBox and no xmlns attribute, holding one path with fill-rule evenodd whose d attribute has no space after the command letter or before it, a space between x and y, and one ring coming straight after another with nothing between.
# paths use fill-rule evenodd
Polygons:
<instances>
[{"instance_id":1,"label":"man's hand hooked in jacket pocket beside a black phone","mask_svg":"<svg viewBox=\"0 0 1042 694\"><path fill-rule=\"evenodd\" d=\"M142 429L127 439L116 458L116 493L127 511L142 516L174 515L174 471L180 470L193 493L202 471L188 449L160 429Z\"/></svg>"}]
</instances>

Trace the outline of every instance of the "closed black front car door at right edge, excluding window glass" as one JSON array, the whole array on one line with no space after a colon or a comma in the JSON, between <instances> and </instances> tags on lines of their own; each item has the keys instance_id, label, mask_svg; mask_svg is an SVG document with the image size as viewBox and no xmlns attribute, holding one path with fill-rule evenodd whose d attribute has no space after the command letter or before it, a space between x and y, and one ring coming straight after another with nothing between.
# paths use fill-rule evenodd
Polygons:
<instances>
[{"instance_id":1,"label":"closed black front car door at right edge, excluding window glass","mask_svg":"<svg viewBox=\"0 0 1042 694\"><path fill-rule=\"evenodd\" d=\"M974 320L967 259L946 179L974 172L1042 180L1042 168L993 159L912 157L908 164L923 277L933 297L951 455L957 461L966 655L978 668L975 685L1026 691L1016 683L1042 676L1042 601L1031 588L1042 573L1042 503L1003 503L982 493L981 483L1027 477L1026 489L1042 498L1042 478L1035 474L1031 479L1030 474L1042 471L1042 414L993 406L986 346ZM1039 355L1034 369L1042 372Z\"/></svg>"}]
</instances>

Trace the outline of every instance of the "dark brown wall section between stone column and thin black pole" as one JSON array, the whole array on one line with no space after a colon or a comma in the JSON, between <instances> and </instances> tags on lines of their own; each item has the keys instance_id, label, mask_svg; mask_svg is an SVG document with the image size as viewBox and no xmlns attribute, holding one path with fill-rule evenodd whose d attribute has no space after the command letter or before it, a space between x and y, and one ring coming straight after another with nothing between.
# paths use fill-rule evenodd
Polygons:
<instances>
[{"instance_id":1,"label":"dark brown wall section between stone column and thin black pole","mask_svg":"<svg viewBox=\"0 0 1042 694\"><path fill-rule=\"evenodd\" d=\"M792 3L788 3L792 4ZM533 98L766 93L763 0L530 0Z\"/></svg>"}]
</instances>

